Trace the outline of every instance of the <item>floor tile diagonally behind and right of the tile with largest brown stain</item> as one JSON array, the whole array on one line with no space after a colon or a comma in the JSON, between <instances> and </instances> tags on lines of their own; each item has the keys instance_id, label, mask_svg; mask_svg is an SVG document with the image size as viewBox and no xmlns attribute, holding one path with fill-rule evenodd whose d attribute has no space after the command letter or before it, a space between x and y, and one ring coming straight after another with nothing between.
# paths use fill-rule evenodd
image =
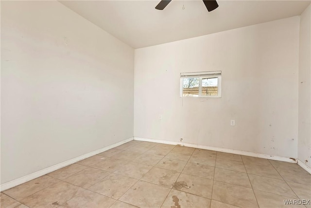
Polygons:
<instances>
[{"instance_id":1,"label":"floor tile diagonally behind and right of the tile with largest brown stain","mask_svg":"<svg viewBox=\"0 0 311 208\"><path fill-rule=\"evenodd\" d=\"M214 180L252 189L248 176L244 172L216 168Z\"/></svg>"}]
</instances>

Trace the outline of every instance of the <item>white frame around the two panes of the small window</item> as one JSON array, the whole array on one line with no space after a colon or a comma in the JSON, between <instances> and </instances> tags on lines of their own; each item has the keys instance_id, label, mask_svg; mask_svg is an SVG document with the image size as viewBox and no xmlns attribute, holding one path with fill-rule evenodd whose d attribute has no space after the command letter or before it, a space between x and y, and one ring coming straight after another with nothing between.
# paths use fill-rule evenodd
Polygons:
<instances>
[{"instance_id":1,"label":"white frame around the two panes of the small window","mask_svg":"<svg viewBox=\"0 0 311 208\"><path fill-rule=\"evenodd\" d=\"M211 72L191 72L191 73L180 73L180 97L183 97L183 78L199 78L199 96L198 97L222 97L222 71L211 71ZM202 79L204 78L218 78L217 96L213 95L202 95ZM190 96L197 97L197 96Z\"/></svg>"}]
</instances>

